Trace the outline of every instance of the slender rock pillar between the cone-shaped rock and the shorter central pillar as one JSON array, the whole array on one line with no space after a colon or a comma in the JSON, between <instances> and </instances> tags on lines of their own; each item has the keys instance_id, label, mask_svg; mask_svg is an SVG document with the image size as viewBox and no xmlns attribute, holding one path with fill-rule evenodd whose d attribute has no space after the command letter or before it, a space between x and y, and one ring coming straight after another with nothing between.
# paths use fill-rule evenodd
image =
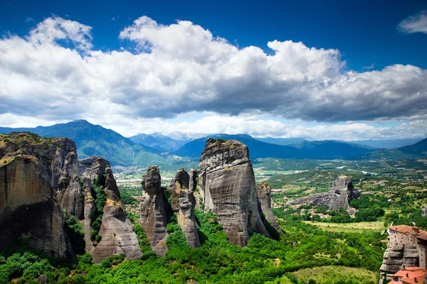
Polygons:
<instances>
[{"instance_id":1,"label":"slender rock pillar between the cone-shaped rock and the shorter central pillar","mask_svg":"<svg viewBox=\"0 0 427 284\"><path fill-rule=\"evenodd\" d=\"M161 187L159 168L153 165L142 177L141 217L139 224L147 234L147 239L157 256L167 253L167 219L172 208Z\"/></svg>"}]
</instances>

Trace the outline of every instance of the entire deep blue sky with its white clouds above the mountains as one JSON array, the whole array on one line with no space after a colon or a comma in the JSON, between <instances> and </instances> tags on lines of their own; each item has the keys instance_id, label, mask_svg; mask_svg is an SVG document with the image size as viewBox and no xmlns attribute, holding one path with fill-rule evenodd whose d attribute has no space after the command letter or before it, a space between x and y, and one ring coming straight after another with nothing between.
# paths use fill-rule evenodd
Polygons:
<instances>
[{"instance_id":1,"label":"entire deep blue sky with its white clouds above the mountains","mask_svg":"<svg viewBox=\"0 0 427 284\"><path fill-rule=\"evenodd\" d=\"M0 126L427 136L427 1L0 0Z\"/></svg>"}]
</instances>

